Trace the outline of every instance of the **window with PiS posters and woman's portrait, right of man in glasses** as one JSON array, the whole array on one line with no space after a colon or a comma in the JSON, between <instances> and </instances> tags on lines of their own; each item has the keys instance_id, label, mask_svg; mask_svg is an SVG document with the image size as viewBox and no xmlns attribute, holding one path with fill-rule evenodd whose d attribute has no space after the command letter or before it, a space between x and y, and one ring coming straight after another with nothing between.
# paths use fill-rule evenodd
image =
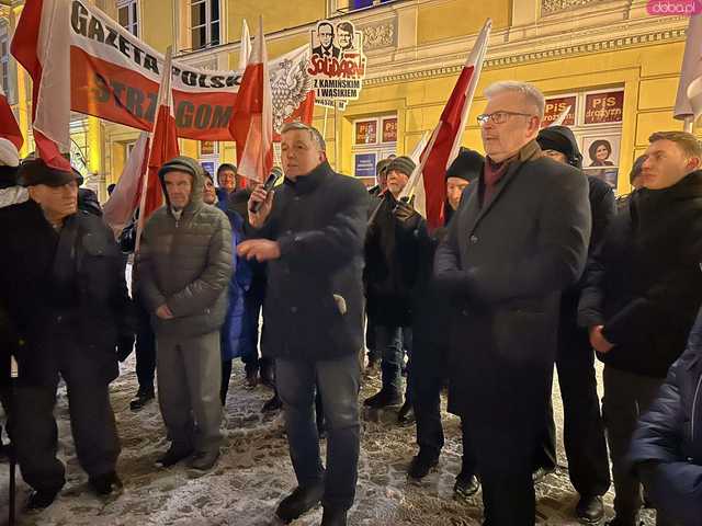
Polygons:
<instances>
[{"instance_id":1,"label":"window with PiS posters and woman's portrait, right of man in glasses","mask_svg":"<svg viewBox=\"0 0 702 526\"><path fill-rule=\"evenodd\" d=\"M624 90L613 88L547 96L544 126L567 107L570 110L563 125L573 130L578 141L585 173L602 179L616 192Z\"/></svg>"}]
</instances>

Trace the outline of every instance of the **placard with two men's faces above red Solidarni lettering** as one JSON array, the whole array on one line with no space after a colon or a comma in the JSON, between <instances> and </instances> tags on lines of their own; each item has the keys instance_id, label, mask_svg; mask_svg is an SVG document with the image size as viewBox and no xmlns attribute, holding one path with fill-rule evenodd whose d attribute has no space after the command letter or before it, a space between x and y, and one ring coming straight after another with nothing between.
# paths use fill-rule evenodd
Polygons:
<instances>
[{"instance_id":1,"label":"placard with two men's faces above red Solidarni lettering","mask_svg":"<svg viewBox=\"0 0 702 526\"><path fill-rule=\"evenodd\" d=\"M363 33L352 22L317 22L310 32L307 72L313 79L315 104L343 110L360 96L365 77Z\"/></svg>"}]
</instances>

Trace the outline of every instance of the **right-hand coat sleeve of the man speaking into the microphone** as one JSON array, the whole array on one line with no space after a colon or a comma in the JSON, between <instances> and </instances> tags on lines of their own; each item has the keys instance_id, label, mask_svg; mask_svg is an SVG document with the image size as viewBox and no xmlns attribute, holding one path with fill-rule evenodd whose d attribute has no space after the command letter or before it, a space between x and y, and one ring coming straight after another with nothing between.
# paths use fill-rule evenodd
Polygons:
<instances>
[{"instance_id":1,"label":"right-hand coat sleeve of the man speaking into the microphone","mask_svg":"<svg viewBox=\"0 0 702 526\"><path fill-rule=\"evenodd\" d=\"M361 184L338 188L336 214L324 228L278 238L281 260L298 272L330 272L363 253L369 194Z\"/></svg>"}]
</instances>

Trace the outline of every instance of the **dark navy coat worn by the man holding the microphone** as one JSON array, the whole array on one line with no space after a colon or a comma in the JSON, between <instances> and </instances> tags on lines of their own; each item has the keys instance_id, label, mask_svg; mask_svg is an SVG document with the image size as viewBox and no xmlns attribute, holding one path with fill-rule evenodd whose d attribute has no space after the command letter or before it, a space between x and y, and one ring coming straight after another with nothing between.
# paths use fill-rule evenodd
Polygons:
<instances>
[{"instance_id":1,"label":"dark navy coat worn by the man holding the microphone","mask_svg":"<svg viewBox=\"0 0 702 526\"><path fill-rule=\"evenodd\" d=\"M263 353L332 359L363 346L363 240L369 195L325 161L275 188L273 209L249 238L276 240L268 263Z\"/></svg>"}]
</instances>

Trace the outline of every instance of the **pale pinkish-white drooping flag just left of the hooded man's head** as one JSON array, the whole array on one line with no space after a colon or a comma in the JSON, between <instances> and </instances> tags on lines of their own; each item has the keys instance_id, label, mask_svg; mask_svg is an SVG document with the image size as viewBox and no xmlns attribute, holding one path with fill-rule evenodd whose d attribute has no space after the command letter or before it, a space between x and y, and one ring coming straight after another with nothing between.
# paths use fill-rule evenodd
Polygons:
<instances>
[{"instance_id":1,"label":"pale pinkish-white drooping flag just left of the hooded man's head","mask_svg":"<svg viewBox=\"0 0 702 526\"><path fill-rule=\"evenodd\" d=\"M141 132L132 148L114 192L102 207L102 217L115 235L118 235L128 225L134 216L134 210L140 203L140 187L148 168L148 151L149 134Z\"/></svg>"}]
</instances>

